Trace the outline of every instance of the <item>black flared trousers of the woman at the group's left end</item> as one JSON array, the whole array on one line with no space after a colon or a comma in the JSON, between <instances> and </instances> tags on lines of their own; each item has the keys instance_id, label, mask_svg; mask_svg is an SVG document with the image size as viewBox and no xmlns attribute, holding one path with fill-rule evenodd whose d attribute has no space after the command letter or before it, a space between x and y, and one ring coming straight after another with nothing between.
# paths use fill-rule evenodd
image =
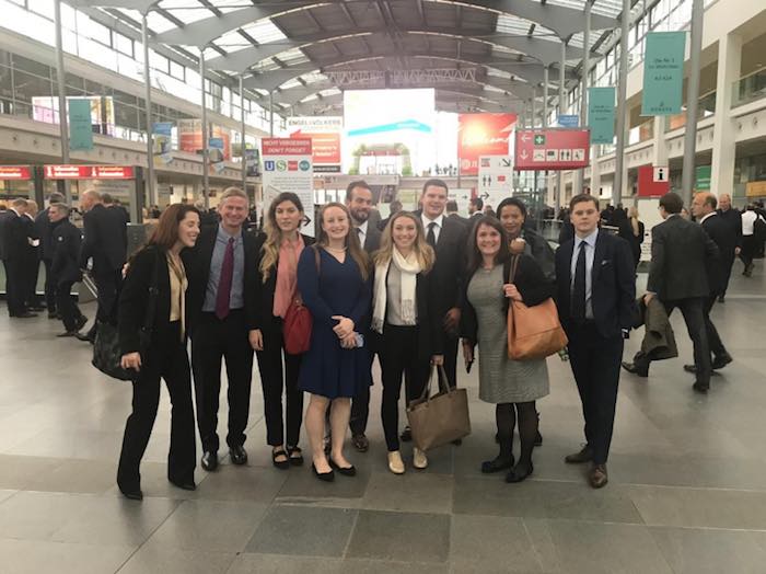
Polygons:
<instances>
[{"instance_id":1,"label":"black flared trousers of the woman at the group's left end","mask_svg":"<svg viewBox=\"0 0 766 574\"><path fill-rule=\"evenodd\" d=\"M186 345L181 342L181 323L171 323L164 336L152 341L149 353L142 359L139 378L132 383L132 412L125 424L117 483L125 490L140 487L141 458L147 450L160 404L160 378L165 379L172 404L167 478L175 482L194 482L196 447L192 377Z\"/></svg>"}]
</instances>

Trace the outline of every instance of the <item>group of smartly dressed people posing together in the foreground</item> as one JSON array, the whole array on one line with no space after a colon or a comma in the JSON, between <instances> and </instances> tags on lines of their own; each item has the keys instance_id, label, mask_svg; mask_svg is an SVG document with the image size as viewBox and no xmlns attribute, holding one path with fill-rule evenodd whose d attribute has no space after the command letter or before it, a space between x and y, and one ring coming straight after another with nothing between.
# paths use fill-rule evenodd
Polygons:
<instances>
[{"instance_id":1,"label":"group of smartly dressed people posing together in the foreground","mask_svg":"<svg viewBox=\"0 0 766 574\"><path fill-rule=\"evenodd\" d=\"M461 337L467 369L478 346L479 395L497 405L499 454L481 471L504 471L507 481L522 481L534 470L532 452L542 440L535 401L548 393L548 372L544 359L509 358L506 312L511 299L534 306L552 296L570 340L585 418L587 445L567 461L591 462L590 484L606 484L623 336L632 323L628 244L599 231L597 203L589 195L572 199L576 238L554 253L524 227L521 200L503 200L498 218L477 215L466 221L445 215L448 194L443 181L429 180L421 209L392 215L381 230L369 220L371 190L353 182L345 204L322 208L316 239L301 233L304 207L291 193L271 202L258 234L243 230L247 197L237 188L222 194L219 225L201 231L195 207L169 206L148 244L129 262L119 297L121 365L138 371L119 459L120 491L129 498L142 497L139 467L161 378L172 402L169 480L182 489L196 487L192 374L201 466L207 471L218 468L222 359L229 402L225 440L231 462L247 461L253 352L274 466L303 463L300 432L305 422L309 462L323 481L356 473L344 451L349 426L353 447L369 448L369 388L378 355L387 466L401 474L406 463L399 440L408 438L407 429L399 435L403 380L408 401L422 393L436 366L454 387ZM290 354L287 325L297 323L286 318L297 306L311 313L311 343L305 353ZM428 454L414 449L411 464L426 468Z\"/></svg>"}]
</instances>

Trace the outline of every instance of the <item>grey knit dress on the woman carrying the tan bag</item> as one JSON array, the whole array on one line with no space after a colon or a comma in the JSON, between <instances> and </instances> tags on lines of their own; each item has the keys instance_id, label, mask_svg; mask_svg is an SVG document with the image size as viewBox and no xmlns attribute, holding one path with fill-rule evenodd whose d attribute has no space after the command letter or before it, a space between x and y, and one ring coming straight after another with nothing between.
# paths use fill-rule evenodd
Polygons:
<instances>
[{"instance_id":1,"label":"grey knit dress on the woman carrying the tan bag","mask_svg":"<svg viewBox=\"0 0 766 574\"><path fill-rule=\"evenodd\" d=\"M504 295L502 265L479 268L468 284L468 301L478 320L479 399L488 403L523 403L547 395L545 359L508 357L508 328L501 312Z\"/></svg>"}]
</instances>

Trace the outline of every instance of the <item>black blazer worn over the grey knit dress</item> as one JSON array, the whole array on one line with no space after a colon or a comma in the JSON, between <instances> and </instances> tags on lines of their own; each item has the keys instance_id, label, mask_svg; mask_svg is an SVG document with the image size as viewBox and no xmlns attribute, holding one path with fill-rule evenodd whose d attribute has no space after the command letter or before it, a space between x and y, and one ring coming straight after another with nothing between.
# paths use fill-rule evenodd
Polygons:
<instances>
[{"instance_id":1,"label":"black blazer worn over the grey knit dress","mask_svg":"<svg viewBox=\"0 0 766 574\"><path fill-rule=\"evenodd\" d=\"M502 265L502 277L503 283L508 283L511 276L511 265L513 263L513 257L509 259ZM480 269L477 269L480 272ZM477 272L474 272L476 274ZM466 277L465 280L465 291L463 312L461 314L461 336L468 340L471 345L476 345L479 340L478 333L478 319L476 318L476 309L471 305L467 297L468 284L471 283L471 277ZM519 267L517 268L515 277L513 278L513 285L519 289L519 294L527 307L534 307L539 305L546 299L549 299L555 295L555 284L548 279L543 273L542 267L531 255L522 254L519 259ZM508 308L510 307L510 299L507 297L502 301L502 307L498 308L498 313L502 313L503 317L508 314Z\"/></svg>"}]
</instances>

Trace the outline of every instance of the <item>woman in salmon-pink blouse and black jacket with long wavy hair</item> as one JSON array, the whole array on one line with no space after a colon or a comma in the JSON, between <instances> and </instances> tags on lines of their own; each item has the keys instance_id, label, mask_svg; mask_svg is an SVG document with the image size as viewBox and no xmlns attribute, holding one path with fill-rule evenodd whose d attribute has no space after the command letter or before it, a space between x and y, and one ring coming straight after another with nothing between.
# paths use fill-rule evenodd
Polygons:
<instances>
[{"instance_id":1,"label":"woman in salmon-pink blouse and black jacket with long wavy hair","mask_svg":"<svg viewBox=\"0 0 766 574\"><path fill-rule=\"evenodd\" d=\"M281 193L271 202L264 233L256 240L258 295L252 337L264 391L266 441L271 446L271 462L278 469L303 463L298 446L303 421L303 391L298 389L301 355L285 349L285 317L300 297L298 260L314 243L313 238L300 233L303 217L301 199L293 193ZM282 393L287 403L285 417Z\"/></svg>"}]
</instances>

